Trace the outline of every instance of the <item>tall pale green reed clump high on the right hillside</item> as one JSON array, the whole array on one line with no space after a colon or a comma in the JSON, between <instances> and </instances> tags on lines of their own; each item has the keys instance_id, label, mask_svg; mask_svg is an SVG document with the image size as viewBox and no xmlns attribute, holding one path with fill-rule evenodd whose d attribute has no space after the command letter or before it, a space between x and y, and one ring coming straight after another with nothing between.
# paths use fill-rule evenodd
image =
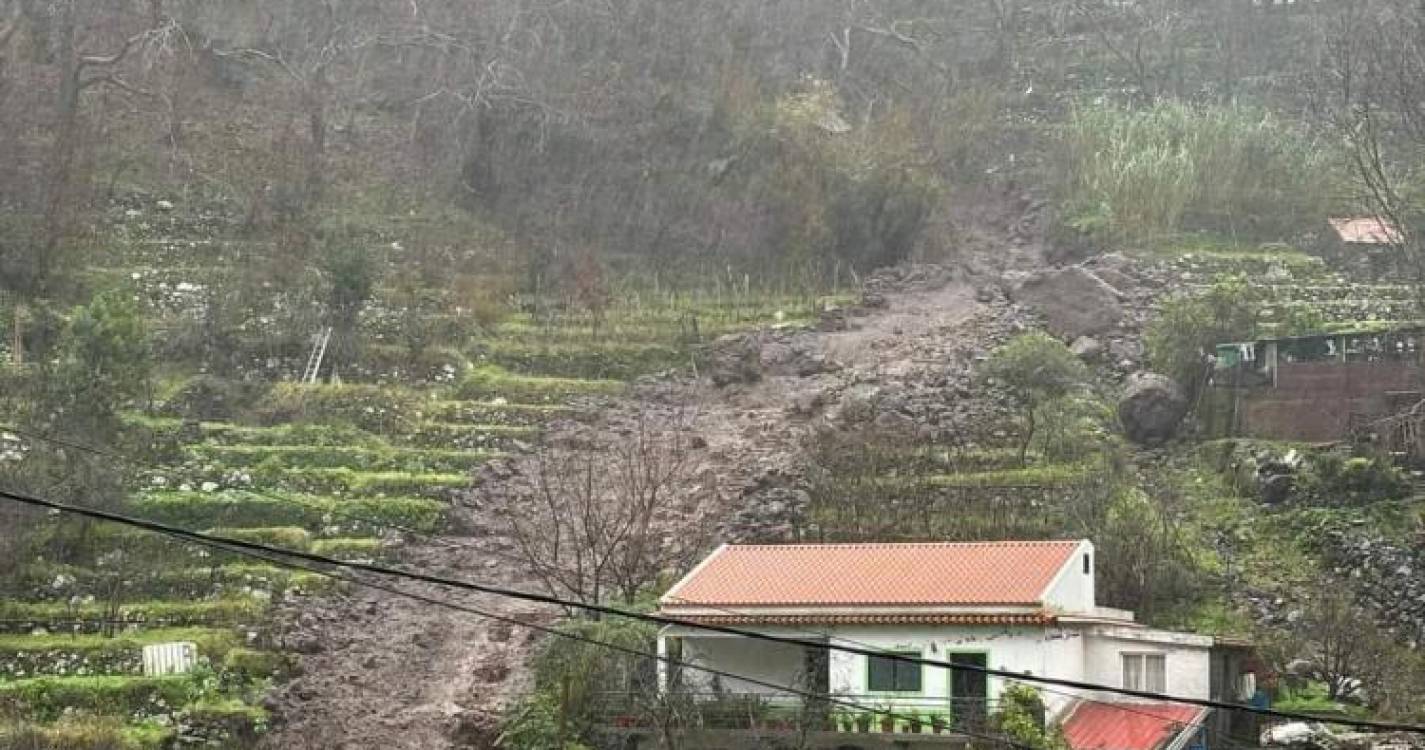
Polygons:
<instances>
[{"instance_id":1,"label":"tall pale green reed clump high on the right hillside","mask_svg":"<svg viewBox=\"0 0 1425 750\"><path fill-rule=\"evenodd\" d=\"M1325 220L1334 194L1328 147L1247 107L1083 106L1062 148L1067 222L1110 242L1294 237Z\"/></svg>"}]
</instances>

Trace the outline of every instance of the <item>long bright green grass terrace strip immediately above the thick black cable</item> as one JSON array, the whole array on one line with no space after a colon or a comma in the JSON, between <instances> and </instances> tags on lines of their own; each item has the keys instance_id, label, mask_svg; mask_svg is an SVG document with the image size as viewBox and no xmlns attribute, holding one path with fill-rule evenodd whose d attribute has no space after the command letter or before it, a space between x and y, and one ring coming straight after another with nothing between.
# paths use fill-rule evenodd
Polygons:
<instances>
[{"instance_id":1,"label":"long bright green grass terrace strip immediately above the thick black cable","mask_svg":"<svg viewBox=\"0 0 1425 750\"><path fill-rule=\"evenodd\" d=\"M453 479L452 479L453 481ZM462 481L467 479L462 475ZM430 533L440 528L445 503L429 498L351 498L314 495L164 490L131 502L144 518L190 529L221 526L338 528L341 533L372 533L403 526Z\"/></svg>"}]
</instances>

